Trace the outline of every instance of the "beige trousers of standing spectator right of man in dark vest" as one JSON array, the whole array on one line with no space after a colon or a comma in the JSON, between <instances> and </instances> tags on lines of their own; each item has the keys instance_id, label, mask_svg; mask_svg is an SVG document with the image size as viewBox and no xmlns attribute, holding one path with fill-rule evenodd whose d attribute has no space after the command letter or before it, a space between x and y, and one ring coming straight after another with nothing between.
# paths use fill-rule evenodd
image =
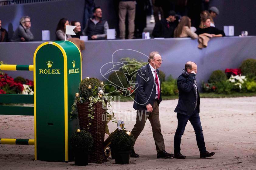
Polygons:
<instances>
[{"instance_id":1,"label":"beige trousers of standing spectator right of man in dark vest","mask_svg":"<svg viewBox=\"0 0 256 170\"><path fill-rule=\"evenodd\" d=\"M125 17L128 13L128 39L134 36L134 19L136 4L134 0L120 0L119 2L119 30L120 38L125 39Z\"/></svg>"}]
</instances>

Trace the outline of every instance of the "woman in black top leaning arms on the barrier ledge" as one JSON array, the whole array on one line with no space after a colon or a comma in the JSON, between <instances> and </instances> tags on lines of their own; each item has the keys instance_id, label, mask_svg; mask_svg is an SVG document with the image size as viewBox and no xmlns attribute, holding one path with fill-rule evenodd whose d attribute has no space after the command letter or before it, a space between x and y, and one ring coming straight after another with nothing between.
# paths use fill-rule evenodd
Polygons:
<instances>
[{"instance_id":1,"label":"woman in black top leaning arms on the barrier ledge","mask_svg":"<svg viewBox=\"0 0 256 170\"><path fill-rule=\"evenodd\" d=\"M223 30L219 30L215 27L211 27L211 19L209 17L202 18L202 23L203 23L203 28L198 28L195 32L197 35L204 34L209 38L225 36L225 33Z\"/></svg>"}]
</instances>

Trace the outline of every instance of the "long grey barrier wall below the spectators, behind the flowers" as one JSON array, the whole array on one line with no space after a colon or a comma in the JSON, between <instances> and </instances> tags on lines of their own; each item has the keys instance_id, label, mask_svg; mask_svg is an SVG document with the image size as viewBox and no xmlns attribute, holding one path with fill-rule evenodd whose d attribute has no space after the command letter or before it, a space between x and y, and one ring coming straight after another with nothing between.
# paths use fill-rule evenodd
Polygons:
<instances>
[{"instance_id":1,"label":"long grey barrier wall below the spectators, behind the flowers","mask_svg":"<svg viewBox=\"0 0 256 170\"><path fill-rule=\"evenodd\" d=\"M0 43L0 60L7 64L33 65L33 54L41 43ZM256 36L212 38L208 47L204 49L198 49L197 45L197 40L190 38L87 41L82 52L82 78L96 77L105 81L100 72L102 66L104 75L113 67L112 62L116 62L116 65L120 62L120 58L124 57L147 62L147 56L152 51L161 54L163 62L159 69L166 76L171 74L177 78L187 61L197 63L196 78L200 84L202 80L206 82L214 70L238 68L244 59L256 59ZM6 73L13 78L23 76L33 79L33 72Z\"/></svg>"}]
</instances>

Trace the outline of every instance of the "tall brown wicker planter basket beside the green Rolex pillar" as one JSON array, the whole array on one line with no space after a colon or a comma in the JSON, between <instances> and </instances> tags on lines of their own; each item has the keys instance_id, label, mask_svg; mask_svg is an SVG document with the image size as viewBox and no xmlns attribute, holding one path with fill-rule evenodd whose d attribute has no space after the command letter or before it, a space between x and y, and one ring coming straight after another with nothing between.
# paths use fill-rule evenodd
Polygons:
<instances>
[{"instance_id":1,"label":"tall brown wicker planter basket beside the green Rolex pillar","mask_svg":"<svg viewBox=\"0 0 256 170\"><path fill-rule=\"evenodd\" d=\"M94 119L91 119L91 125L88 122L88 114L91 112L88 111L89 102L77 102L77 110L78 110L78 120L80 129L86 130L92 134L94 139L94 145L92 146L92 150L89 154L89 161L91 163L103 163L107 162L107 158L103 149L103 142L105 136L105 125L106 122L102 121L102 115L106 116L106 110L102 108L102 103L97 102L93 104L94 107ZM87 129L89 127L89 129Z\"/></svg>"}]
</instances>

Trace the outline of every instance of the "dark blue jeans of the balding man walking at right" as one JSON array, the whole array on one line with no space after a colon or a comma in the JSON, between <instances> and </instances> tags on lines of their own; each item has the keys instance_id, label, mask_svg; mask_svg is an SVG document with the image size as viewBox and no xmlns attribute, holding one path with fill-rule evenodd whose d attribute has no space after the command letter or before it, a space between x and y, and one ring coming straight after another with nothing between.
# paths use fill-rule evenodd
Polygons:
<instances>
[{"instance_id":1,"label":"dark blue jeans of the balding man walking at right","mask_svg":"<svg viewBox=\"0 0 256 170\"><path fill-rule=\"evenodd\" d=\"M197 147L199 148L199 151L205 152L206 147L204 143L203 130L202 130L200 116L197 109L195 109L194 113L190 116L177 113L177 118L178 118L178 127L174 135L174 153L180 153L181 136L185 131L185 127L187 125L188 120L190 121L191 125L195 130L195 138L196 138L196 143L197 143Z\"/></svg>"}]
</instances>

